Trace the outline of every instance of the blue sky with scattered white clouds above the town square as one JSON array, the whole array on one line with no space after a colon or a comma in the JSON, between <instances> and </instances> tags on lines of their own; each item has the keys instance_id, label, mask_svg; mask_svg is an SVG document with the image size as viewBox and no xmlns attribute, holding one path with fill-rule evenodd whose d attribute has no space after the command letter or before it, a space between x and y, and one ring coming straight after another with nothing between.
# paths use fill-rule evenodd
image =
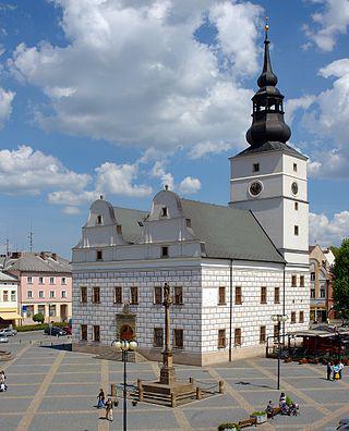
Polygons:
<instances>
[{"instance_id":1,"label":"blue sky with scattered white clouds above the town square","mask_svg":"<svg viewBox=\"0 0 349 431\"><path fill-rule=\"evenodd\" d=\"M229 200L264 17L290 144L310 157L311 241L348 236L349 0L0 2L0 243L69 257L88 206L169 184ZM4 246L1 246L1 251Z\"/></svg>"}]
</instances>

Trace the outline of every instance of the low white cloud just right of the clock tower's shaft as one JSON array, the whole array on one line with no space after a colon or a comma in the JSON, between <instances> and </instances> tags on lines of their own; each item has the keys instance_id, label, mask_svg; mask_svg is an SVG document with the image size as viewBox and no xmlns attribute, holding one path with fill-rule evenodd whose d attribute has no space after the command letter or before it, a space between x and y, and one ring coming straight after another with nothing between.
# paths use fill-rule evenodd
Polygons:
<instances>
[{"instance_id":1,"label":"low white cloud just right of the clock tower's shaft","mask_svg":"<svg viewBox=\"0 0 349 431\"><path fill-rule=\"evenodd\" d=\"M339 245L349 236L349 211L334 214L332 220L322 214L309 214L310 244Z\"/></svg>"}]
</instances>

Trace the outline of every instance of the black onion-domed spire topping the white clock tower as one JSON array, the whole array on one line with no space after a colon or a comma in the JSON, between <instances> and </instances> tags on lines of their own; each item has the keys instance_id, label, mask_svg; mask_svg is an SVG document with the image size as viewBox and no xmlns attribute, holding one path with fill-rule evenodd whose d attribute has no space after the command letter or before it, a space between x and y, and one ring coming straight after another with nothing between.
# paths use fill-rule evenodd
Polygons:
<instances>
[{"instance_id":1,"label":"black onion-domed spire topping the white clock tower","mask_svg":"<svg viewBox=\"0 0 349 431\"><path fill-rule=\"evenodd\" d=\"M246 133L248 143L254 147L267 141L286 144L291 137L291 130L284 120L284 96L276 88L277 76L272 69L267 30L266 26L264 64L257 81L260 89L252 98L252 125Z\"/></svg>"}]
</instances>

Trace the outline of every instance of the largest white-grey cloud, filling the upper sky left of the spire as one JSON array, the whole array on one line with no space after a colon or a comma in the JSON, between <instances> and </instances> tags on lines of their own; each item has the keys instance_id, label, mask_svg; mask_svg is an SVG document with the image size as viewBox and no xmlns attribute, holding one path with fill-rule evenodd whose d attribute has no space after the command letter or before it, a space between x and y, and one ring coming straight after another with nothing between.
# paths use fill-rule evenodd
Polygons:
<instances>
[{"instance_id":1,"label":"largest white-grey cloud, filling the upper sky left of the spire","mask_svg":"<svg viewBox=\"0 0 349 431\"><path fill-rule=\"evenodd\" d=\"M47 130L158 149L244 143L262 8L227 0L56 0L67 47L17 46L12 72L47 95ZM216 44L195 39L205 20ZM243 28L238 32L237 28ZM69 73L67 73L69 71ZM50 112L48 114L47 112Z\"/></svg>"}]
</instances>

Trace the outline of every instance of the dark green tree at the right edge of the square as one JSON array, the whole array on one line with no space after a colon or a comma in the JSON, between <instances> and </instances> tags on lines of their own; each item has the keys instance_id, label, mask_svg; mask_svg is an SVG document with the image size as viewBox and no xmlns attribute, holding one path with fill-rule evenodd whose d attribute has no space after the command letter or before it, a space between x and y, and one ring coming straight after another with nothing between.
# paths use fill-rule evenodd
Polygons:
<instances>
[{"instance_id":1,"label":"dark green tree at the right edge of the square","mask_svg":"<svg viewBox=\"0 0 349 431\"><path fill-rule=\"evenodd\" d=\"M342 324L349 319L349 238L342 241L333 268L333 298Z\"/></svg>"}]
</instances>

